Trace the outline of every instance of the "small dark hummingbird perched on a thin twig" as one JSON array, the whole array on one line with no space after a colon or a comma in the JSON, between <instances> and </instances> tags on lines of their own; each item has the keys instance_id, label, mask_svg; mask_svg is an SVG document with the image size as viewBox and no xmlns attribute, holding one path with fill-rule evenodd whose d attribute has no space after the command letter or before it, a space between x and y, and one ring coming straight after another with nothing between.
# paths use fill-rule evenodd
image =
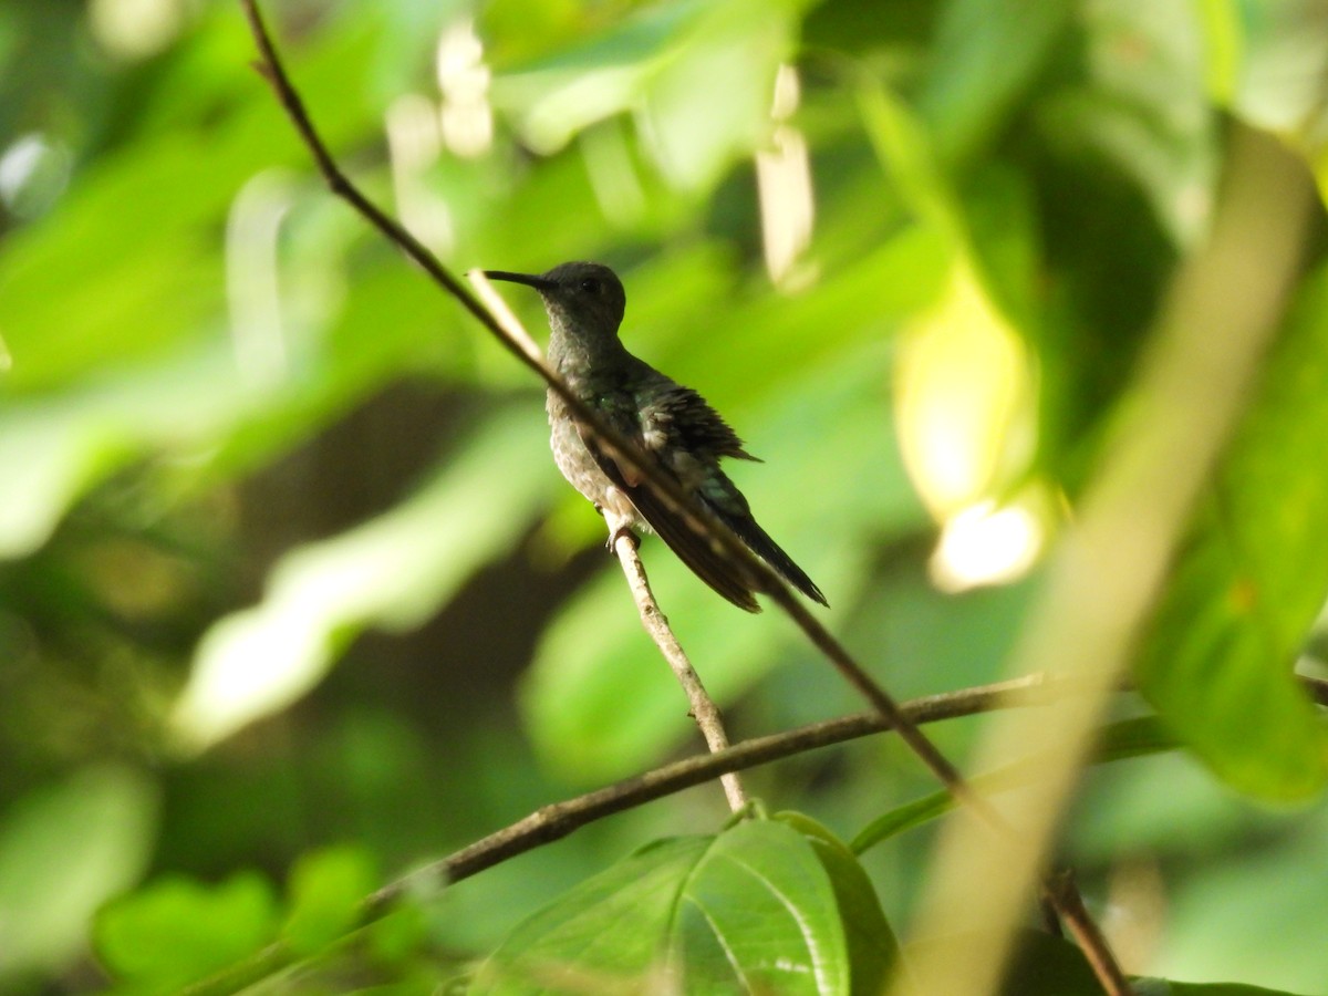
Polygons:
<instances>
[{"instance_id":1,"label":"small dark hummingbird perched on a thin twig","mask_svg":"<svg viewBox=\"0 0 1328 996\"><path fill-rule=\"evenodd\" d=\"M539 291L548 315L554 371L677 483L693 518L717 518L793 587L829 607L821 588L757 525L746 498L720 469L724 457L761 461L744 449L742 440L704 397L627 352L618 335L627 293L612 270L599 263L563 263L546 274L486 270L485 276ZM742 563L660 498L639 470L598 445L552 389L547 410L554 461L610 523L611 547L622 530L653 530L714 591L738 608L761 611L757 586Z\"/></svg>"}]
</instances>

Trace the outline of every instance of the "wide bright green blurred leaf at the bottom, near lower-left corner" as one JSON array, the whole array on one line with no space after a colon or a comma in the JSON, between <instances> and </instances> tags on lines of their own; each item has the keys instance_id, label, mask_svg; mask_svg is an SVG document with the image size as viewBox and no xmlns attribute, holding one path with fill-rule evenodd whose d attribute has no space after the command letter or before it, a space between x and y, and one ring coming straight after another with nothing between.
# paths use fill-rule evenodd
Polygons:
<instances>
[{"instance_id":1,"label":"wide bright green blurred leaf at the bottom, near lower-left corner","mask_svg":"<svg viewBox=\"0 0 1328 996\"><path fill-rule=\"evenodd\" d=\"M122 981L173 992L252 955L276 926L272 888L255 872L215 886L163 878L101 911L97 952Z\"/></svg>"}]
</instances>

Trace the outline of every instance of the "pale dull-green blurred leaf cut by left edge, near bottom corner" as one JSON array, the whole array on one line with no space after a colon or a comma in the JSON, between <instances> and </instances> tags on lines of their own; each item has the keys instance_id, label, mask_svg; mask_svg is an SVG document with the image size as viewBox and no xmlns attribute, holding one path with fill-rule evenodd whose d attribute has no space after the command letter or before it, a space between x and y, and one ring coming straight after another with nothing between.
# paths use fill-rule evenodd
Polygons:
<instances>
[{"instance_id":1,"label":"pale dull-green blurred leaf cut by left edge, near bottom corner","mask_svg":"<svg viewBox=\"0 0 1328 996\"><path fill-rule=\"evenodd\" d=\"M142 774L109 764L9 806L0 818L0 988L86 944L93 911L146 869L157 806Z\"/></svg>"}]
</instances>

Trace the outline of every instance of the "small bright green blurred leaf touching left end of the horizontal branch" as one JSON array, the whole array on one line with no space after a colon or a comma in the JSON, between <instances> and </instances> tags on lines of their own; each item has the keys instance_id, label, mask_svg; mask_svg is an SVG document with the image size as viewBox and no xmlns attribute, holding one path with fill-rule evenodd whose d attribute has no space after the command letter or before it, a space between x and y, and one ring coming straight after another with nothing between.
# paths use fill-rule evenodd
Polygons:
<instances>
[{"instance_id":1,"label":"small bright green blurred leaf touching left end of the horizontal branch","mask_svg":"<svg viewBox=\"0 0 1328 996\"><path fill-rule=\"evenodd\" d=\"M374 859L363 847L301 855L291 871L291 908L282 935L297 955L321 951L359 924L364 899L377 884Z\"/></svg>"}]
</instances>

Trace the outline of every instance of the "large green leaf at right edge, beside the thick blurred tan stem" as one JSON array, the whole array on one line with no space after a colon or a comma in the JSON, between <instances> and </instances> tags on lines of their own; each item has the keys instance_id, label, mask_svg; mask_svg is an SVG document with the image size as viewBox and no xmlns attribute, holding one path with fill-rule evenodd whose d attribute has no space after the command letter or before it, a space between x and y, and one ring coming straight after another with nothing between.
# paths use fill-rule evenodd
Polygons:
<instances>
[{"instance_id":1,"label":"large green leaf at right edge, beside the thick blurred tan stem","mask_svg":"<svg viewBox=\"0 0 1328 996\"><path fill-rule=\"evenodd\" d=\"M1139 688L1234 788L1304 798L1328 738L1292 676L1328 596L1328 272L1295 304L1142 645Z\"/></svg>"}]
</instances>

